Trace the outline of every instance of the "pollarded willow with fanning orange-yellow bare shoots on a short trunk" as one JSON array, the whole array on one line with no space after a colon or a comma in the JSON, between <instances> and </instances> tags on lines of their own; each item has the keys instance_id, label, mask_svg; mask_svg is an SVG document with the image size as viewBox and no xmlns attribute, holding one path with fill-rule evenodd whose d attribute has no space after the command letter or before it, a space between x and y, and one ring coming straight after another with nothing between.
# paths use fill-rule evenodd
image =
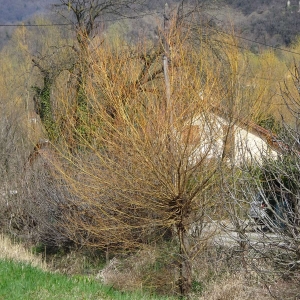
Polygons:
<instances>
[{"instance_id":1,"label":"pollarded willow with fanning orange-yellow bare shoots on a short trunk","mask_svg":"<svg viewBox=\"0 0 300 300\"><path fill-rule=\"evenodd\" d=\"M178 291L185 295L193 258L211 235L204 225L218 207L230 127L245 107L256 111L261 93L245 102L239 92L245 64L237 47L224 47L235 43L230 37L178 26L176 18L165 29L164 61L147 42L104 41L95 49L85 83L88 131L80 133L72 116L66 121L65 132L78 134L79 151L65 147L57 168L73 194L62 204L72 240L136 249L173 237ZM70 103L60 104L66 117Z\"/></svg>"}]
</instances>

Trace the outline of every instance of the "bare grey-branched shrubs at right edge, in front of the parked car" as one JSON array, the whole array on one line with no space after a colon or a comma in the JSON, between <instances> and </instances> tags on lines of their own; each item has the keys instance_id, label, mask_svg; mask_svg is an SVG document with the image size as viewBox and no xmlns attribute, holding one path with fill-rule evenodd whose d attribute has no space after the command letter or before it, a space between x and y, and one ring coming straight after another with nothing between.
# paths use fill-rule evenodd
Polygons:
<instances>
[{"instance_id":1,"label":"bare grey-branched shrubs at right edge, in front of the parked car","mask_svg":"<svg viewBox=\"0 0 300 300\"><path fill-rule=\"evenodd\" d=\"M228 196L227 209L237 232L232 236L242 247L245 267L257 272L276 299L295 299L300 293L297 66L295 70L294 86L284 83L281 87L290 115L282 117L277 135L270 133L276 158L262 152L261 161L235 169L223 194Z\"/></svg>"}]
</instances>

